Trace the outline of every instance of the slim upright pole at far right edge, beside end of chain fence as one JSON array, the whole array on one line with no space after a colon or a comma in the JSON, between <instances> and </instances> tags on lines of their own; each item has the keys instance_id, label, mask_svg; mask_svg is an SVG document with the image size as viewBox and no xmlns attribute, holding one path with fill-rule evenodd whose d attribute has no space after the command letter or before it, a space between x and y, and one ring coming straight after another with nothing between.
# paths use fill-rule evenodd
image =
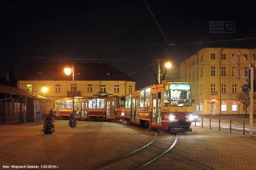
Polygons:
<instances>
[{"instance_id":1,"label":"slim upright pole at far right edge, beside end of chain fence","mask_svg":"<svg viewBox=\"0 0 256 170\"><path fill-rule=\"evenodd\" d=\"M254 65L250 65L250 137L253 136L253 79L254 79Z\"/></svg>"}]
</instances>

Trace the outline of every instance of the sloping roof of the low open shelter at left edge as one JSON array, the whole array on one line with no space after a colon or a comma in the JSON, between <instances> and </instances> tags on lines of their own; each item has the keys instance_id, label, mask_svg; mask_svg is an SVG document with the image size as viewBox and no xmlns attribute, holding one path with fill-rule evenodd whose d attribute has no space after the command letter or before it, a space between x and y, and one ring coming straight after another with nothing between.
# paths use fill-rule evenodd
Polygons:
<instances>
[{"instance_id":1,"label":"sloping roof of the low open shelter at left edge","mask_svg":"<svg viewBox=\"0 0 256 170\"><path fill-rule=\"evenodd\" d=\"M33 97L32 94L29 91L24 91L23 89L13 88L11 86L6 86L3 84L0 84L0 93L8 94L8 95L16 95L19 97L27 97L27 98L38 98L38 99L45 99L48 100L45 97L42 97L40 95L37 95L37 97Z\"/></svg>"}]
</instances>

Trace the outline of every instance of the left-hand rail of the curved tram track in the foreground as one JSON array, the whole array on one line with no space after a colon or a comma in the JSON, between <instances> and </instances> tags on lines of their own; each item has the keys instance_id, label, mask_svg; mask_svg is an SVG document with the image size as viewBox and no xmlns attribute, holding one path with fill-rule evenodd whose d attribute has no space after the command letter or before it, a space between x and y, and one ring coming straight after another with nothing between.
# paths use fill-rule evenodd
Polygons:
<instances>
[{"instance_id":1,"label":"left-hand rail of the curved tram track in the foreground","mask_svg":"<svg viewBox=\"0 0 256 170\"><path fill-rule=\"evenodd\" d=\"M128 157L128 156L133 155L134 153L142 150L143 148L146 148L148 145L150 145L150 144L154 143L154 141L156 141L156 139L158 137L158 132L157 131L155 131L155 132L156 132L155 138L150 143L146 144L145 146L142 146L141 148L138 148L138 150L134 150L134 151L131 151L130 153L127 153L127 154L122 155L120 157L116 157L116 158L113 158L111 160L107 160L106 162L103 162L102 164L98 164L96 166L88 167L88 168L86 168L86 170L95 169L95 168L98 168L98 167L105 166L105 165L107 165L107 164L109 164L111 162L115 162L116 160L119 160L121 158Z\"/></svg>"}]
</instances>

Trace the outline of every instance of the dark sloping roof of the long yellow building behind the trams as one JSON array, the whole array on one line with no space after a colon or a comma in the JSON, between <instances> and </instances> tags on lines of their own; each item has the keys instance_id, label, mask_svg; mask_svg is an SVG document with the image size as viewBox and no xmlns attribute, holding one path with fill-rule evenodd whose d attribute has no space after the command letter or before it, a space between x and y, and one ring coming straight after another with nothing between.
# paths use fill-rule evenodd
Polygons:
<instances>
[{"instance_id":1,"label":"dark sloping roof of the long yellow building behind the trams","mask_svg":"<svg viewBox=\"0 0 256 170\"><path fill-rule=\"evenodd\" d=\"M72 81L64 68L67 63L31 63L26 65L20 81ZM75 81L134 81L107 63L74 63ZM134 81L135 82L135 81Z\"/></svg>"}]
</instances>

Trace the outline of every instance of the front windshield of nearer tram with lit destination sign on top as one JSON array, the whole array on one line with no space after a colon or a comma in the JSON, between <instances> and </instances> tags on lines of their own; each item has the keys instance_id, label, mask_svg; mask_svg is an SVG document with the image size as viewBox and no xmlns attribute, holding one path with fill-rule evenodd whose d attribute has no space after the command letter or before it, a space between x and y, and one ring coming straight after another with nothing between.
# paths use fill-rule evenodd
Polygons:
<instances>
[{"instance_id":1,"label":"front windshield of nearer tram with lit destination sign on top","mask_svg":"<svg viewBox=\"0 0 256 170\"><path fill-rule=\"evenodd\" d=\"M171 105L191 106L190 84L170 84Z\"/></svg>"}]
</instances>

